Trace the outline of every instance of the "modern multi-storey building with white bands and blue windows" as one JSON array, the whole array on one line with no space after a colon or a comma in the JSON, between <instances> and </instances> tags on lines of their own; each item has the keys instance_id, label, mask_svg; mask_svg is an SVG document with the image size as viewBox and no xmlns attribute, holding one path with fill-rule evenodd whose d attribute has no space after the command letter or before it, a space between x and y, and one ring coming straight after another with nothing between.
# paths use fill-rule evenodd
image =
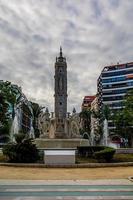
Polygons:
<instances>
[{"instance_id":1,"label":"modern multi-storey building with white bands and blue windows","mask_svg":"<svg viewBox=\"0 0 133 200\"><path fill-rule=\"evenodd\" d=\"M109 105L118 110L123 106L123 99L128 90L133 89L133 62L106 66L97 81L98 105ZM110 129L114 125L110 123Z\"/></svg>"}]
</instances>

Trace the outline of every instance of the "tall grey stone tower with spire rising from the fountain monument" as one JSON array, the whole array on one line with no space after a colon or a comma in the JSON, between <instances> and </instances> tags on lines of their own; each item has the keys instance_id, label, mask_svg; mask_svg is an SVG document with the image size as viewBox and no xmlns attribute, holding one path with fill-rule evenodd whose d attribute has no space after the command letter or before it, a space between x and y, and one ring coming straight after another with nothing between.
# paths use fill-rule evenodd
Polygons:
<instances>
[{"instance_id":1,"label":"tall grey stone tower with spire rising from the fountain monument","mask_svg":"<svg viewBox=\"0 0 133 200\"><path fill-rule=\"evenodd\" d=\"M65 121L67 113L67 63L60 47L55 62L55 138L66 138Z\"/></svg>"}]
</instances>

